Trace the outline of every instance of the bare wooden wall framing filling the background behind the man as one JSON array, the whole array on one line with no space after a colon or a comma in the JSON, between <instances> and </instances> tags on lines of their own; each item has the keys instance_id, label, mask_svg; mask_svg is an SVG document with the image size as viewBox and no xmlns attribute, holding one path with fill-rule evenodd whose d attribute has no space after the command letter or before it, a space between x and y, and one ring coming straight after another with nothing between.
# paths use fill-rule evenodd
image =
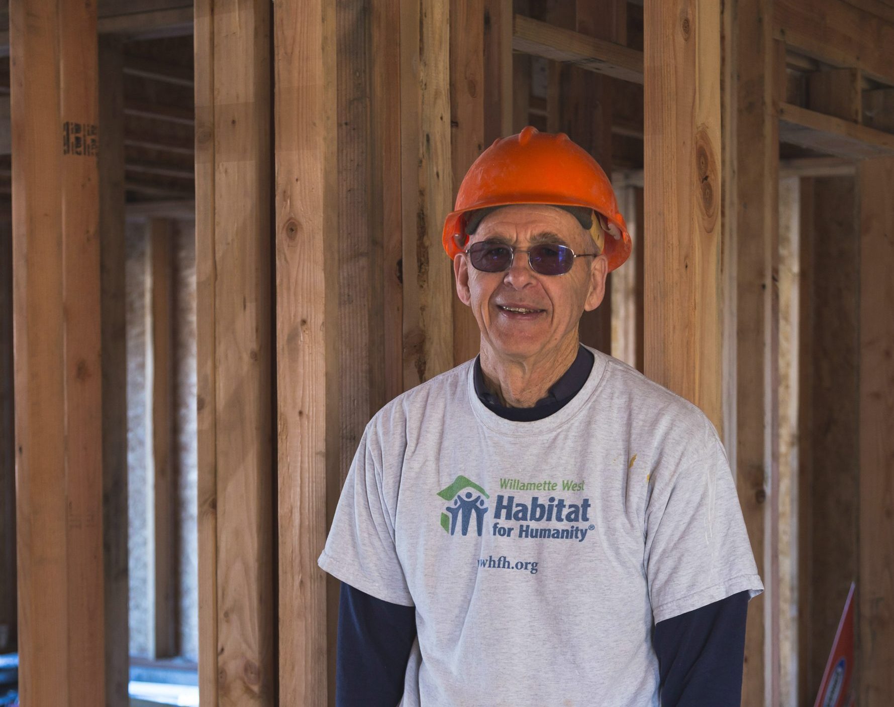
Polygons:
<instances>
[{"instance_id":1,"label":"bare wooden wall framing filling the background behind the man","mask_svg":"<svg viewBox=\"0 0 894 707\"><path fill-rule=\"evenodd\" d=\"M729 450L766 585L749 609L743 704L813 703L855 578L858 703L890 703L887 0L96 5L13 0L0 36L16 155L0 97L14 217L6 251L0 229L0 279L14 282L14 304L0 290L0 436L13 322L19 554L0 650L5 624L29 704L101 703L105 684L122 707L124 646L181 652L178 522L197 526L202 704L334 703L338 584L316 558L368 419L477 353L441 224L468 166L528 123L594 154L635 225L634 257L582 340L695 402ZM190 32L194 72L173 40ZM60 134L82 141L60 154ZM131 341L156 363L148 408L125 400L139 387L124 363L125 198L142 223L131 240L153 234L141 316L157 331ZM181 420L165 374L182 356L173 278L190 275L165 239L193 213L197 409ZM780 272L796 235L799 271ZM125 446L125 409L145 425L144 454ZM193 424L195 483L173 434ZM780 424L797 434L780 438ZM52 443L66 435L83 444ZM6 535L10 459L0 450ZM140 508L154 524L131 530L147 610L130 636L128 528L115 523L128 478L151 489ZM198 518L175 518L190 493ZM138 567L132 543L150 533L161 551ZM0 568L13 557L0 544Z\"/></svg>"}]
</instances>

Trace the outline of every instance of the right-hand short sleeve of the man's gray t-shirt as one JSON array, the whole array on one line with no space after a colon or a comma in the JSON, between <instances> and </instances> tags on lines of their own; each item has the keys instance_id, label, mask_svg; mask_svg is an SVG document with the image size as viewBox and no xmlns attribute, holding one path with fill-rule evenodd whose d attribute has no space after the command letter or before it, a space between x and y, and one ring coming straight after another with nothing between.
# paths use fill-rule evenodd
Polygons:
<instances>
[{"instance_id":1,"label":"right-hand short sleeve of the man's gray t-shirt","mask_svg":"<svg viewBox=\"0 0 894 707\"><path fill-rule=\"evenodd\" d=\"M738 592L763 592L730 464L707 418L695 438L675 458L664 450L646 505L645 573L655 623Z\"/></svg>"}]
</instances>

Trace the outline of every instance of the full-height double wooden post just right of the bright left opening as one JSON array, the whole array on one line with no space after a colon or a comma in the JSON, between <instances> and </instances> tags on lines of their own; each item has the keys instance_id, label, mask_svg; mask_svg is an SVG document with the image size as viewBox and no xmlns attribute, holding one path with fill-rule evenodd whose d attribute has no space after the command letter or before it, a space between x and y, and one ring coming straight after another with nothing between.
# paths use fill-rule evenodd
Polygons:
<instances>
[{"instance_id":1,"label":"full-height double wooden post just right of the bright left opening","mask_svg":"<svg viewBox=\"0 0 894 707\"><path fill-rule=\"evenodd\" d=\"M232 705L273 705L277 682L269 16L196 7L200 682Z\"/></svg>"}]
</instances>

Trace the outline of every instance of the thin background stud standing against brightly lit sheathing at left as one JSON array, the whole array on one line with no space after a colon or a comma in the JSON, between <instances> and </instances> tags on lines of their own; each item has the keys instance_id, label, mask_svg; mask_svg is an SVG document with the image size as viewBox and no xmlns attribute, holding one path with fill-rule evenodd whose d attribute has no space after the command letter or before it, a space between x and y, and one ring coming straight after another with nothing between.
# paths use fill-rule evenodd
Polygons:
<instances>
[{"instance_id":1,"label":"thin background stud standing against brightly lit sheathing at left","mask_svg":"<svg viewBox=\"0 0 894 707\"><path fill-rule=\"evenodd\" d=\"M173 489L173 234L172 224L151 219L149 236L149 320L152 349L151 416L152 506L155 608L153 656L173 658L177 654L174 577L174 489Z\"/></svg>"}]
</instances>

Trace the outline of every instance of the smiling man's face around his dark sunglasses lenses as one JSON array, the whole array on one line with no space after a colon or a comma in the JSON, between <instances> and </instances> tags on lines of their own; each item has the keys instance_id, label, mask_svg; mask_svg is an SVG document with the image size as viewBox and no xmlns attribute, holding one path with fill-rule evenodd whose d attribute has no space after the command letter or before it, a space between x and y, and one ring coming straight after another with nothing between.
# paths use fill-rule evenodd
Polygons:
<instances>
[{"instance_id":1,"label":"smiling man's face around his dark sunglasses lenses","mask_svg":"<svg viewBox=\"0 0 894 707\"><path fill-rule=\"evenodd\" d=\"M594 253L595 243L578 220L555 206L505 206L485 216L467 248L481 241L516 248L512 266L502 273L476 270L465 254L453 260L457 294L472 307L482 345L502 358L530 359L558 350L569 337L577 341L580 316L603 300L608 259L578 257L568 273L543 275L518 250L545 242ZM527 311L514 311L519 309Z\"/></svg>"}]
</instances>

